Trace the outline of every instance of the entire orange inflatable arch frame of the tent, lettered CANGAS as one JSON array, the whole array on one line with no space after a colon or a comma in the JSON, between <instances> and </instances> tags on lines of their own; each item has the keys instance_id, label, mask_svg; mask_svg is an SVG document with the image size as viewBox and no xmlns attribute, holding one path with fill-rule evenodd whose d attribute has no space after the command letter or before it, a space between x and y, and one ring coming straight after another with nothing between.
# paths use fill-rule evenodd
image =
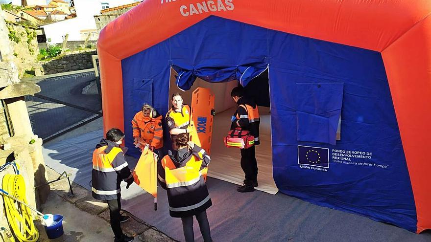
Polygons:
<instances>
[{"instance_id":1,"label":"entire orange inflatable arch frame of the tent, lettered CANGAS","mask_svg":"<svg viewBox=\"0 0 431 242\"><path fill-rule=\"evenodd\" d=\"M144 0L100 32L103 127L124 130L121 60L210 15L382 52L417 210L417 232L431 228L430 0L220 0L230 10L190 15L197 0ZM218 0L205 0L216 2ZM183 11L183 12L182 12ZM189 11L187 17L183 16ZM145 36L145 38L143 38ZM414 84L414 85L412 85Z\"/></svg>"}]
</instances>

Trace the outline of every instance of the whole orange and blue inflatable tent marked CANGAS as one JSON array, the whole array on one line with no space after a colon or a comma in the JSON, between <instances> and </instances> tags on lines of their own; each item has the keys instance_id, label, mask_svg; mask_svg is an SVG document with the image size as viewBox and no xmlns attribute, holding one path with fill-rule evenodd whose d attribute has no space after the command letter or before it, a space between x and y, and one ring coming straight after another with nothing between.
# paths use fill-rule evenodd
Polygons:
<instances>
[{"instance_id":1,"label":"whole orange and blue inflatable tent marked CANGAS","mask_svg":"<svg viewBox=\"0 0 431 242\"><path fill-rule=\"evenodd\" d=\"M99 36L104 129L133 149L134 112L168 111L172 69L183 90L267 71L278 189L419 233L431 227L430 12L428 0L144 0Z\"/></svg>"}]
</instances>

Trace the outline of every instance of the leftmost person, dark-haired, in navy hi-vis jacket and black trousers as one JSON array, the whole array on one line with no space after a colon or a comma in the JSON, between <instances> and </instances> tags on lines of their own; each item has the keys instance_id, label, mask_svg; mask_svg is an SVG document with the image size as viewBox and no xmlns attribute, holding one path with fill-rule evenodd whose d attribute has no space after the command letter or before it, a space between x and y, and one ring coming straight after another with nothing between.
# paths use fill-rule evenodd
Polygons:
<instances>
[{"instance_id":1,"label":"leftmost person, dark-haired, in navy hi-vis jacket and black trousers","mask_svg":"<svg viewBox=\"0 0 431 242\"><path fill-rule=\"evenodd\" d=\"M92 195L93 198L106 200L109 206L111 228L114 242L131 242L133 237L123 234L120 223L129 220L120 215L121 179L127 182L126 188L133 183L133 176L120 148L124 133L113 128L106 133L106 139L100 140L93 152Z\"/></svg>"}]
</instances>

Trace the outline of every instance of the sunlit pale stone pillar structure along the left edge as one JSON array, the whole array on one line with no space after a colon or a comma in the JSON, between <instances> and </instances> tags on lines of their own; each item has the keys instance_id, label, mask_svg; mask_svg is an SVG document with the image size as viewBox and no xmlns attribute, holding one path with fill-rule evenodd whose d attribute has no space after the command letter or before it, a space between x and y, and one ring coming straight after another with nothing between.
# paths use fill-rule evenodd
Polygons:
<instances>
[{"instance_id":1,"label":"sunlit pale stone pillar structure along the left edge","mask_svg":"<svg viewBox=\"0 0 431 242\"><path fill-rule=\"evenodd\" d=\"M12 36L9 35L11 31L8 27L14 31ZM0 10L0 100L3 101L0 104L0 166L10 161L15 161L20 166L20 174L24 177L26 186L27 203L33 207L38 207L48 197L49 186L41 186L36 191L34 190L35 186L42 185L47 180L42 154L42 139L34 135L31 130L24 100L24 95L34 95L40 91L40 87L34 84L20 83L19 68L15 64L18 59L14 55L14 51L17 53L17 46L25 47L28 50L25 39L27 32L25 31L23 36L23 31L25 29L22 26L6 25L3 12ZM20 38L20 41L10 41L11 37ZM25 44L21 41L23 38ZM29 45L33 45L32 41L29 42ZM35 45L37 46L37 44ZM23 52L25 51L23 50ZM27 92L31 89L34 91ZM0 182L6 174L15 174L11 166L0 172ZM0 208L0 227L9 228L3 209L3 199L0 199Z\"/></svg>"}]
</instances>

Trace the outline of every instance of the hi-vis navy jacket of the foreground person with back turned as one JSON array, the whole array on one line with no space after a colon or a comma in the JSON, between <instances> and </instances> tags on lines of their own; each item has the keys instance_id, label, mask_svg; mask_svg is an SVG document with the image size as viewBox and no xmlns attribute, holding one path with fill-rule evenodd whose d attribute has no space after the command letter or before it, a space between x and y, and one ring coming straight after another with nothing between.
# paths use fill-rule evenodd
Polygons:
<instances>
[{"instance_id":1,"label":"hi-vis navy jacket of the foreground person with back turned","mask_svg":"<svg viewBox=\"0 0 431 242\"><path fill-rule=\"evenodd\" d=\"M163 157L158 178L168 192L170 216L193 216L212 205L204 180L209 162L210 156L196 145L181 162L176 161L170 152Z\"/></svg>"}]
</instances>

